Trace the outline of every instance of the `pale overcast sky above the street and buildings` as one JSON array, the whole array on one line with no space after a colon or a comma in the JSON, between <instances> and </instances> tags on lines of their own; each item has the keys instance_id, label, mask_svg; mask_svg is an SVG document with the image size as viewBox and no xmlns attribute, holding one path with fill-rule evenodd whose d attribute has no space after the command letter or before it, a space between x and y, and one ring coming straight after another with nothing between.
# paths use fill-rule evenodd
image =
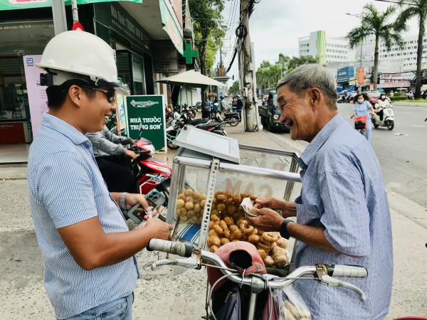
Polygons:
<instances>
[{"instance_id":1,"label":"pale overcast sky above the street and buildings","mask_svg":"<svg viewBox=\"0 0 427 320\"><path fill-rule=\"evenodd\" d=\"M394 1L394 0L392 0ZM362 13L363 6L373 3L379 11L385 11L393 4L383 1L366 0L260 0L255 4L255 10L249 20L251 42L255 46L255 70L263 60L274 63L279 53L298 56L298 38L310 36L310 32L323 30L328 37L345 36L352 28L358 26L360 18L348 16ZM234 10L233 10L234 9ZM235 29L238 21L240 0L226 0L223 12L224 21L232 30L228 31L225 39L225 56L223 62L226 68L231 61ZM410 21L410 30L406 35L416 35L416 21ZM238 77L237 58L228 75ZM228 85L231 85L230 81Z\"/></svg>"}]
</instances>

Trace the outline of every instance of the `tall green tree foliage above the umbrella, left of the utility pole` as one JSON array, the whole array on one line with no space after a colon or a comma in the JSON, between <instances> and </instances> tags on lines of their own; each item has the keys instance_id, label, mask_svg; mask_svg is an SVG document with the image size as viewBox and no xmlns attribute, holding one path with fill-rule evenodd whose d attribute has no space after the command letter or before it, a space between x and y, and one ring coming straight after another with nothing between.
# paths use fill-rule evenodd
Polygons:
<instances>
[{"instance_id":1,"label":"tall green tree foliage above the umbrella, left of the utility pole","mask_svg":"<svg viewBox=\"0 0 427 320\"><path fill-rule=\"evenodd\" d=\"M216 50L226 35L223 23L223 0L189 0L191 18L194 19L194 41L199 50L201 73L208 75L208 70L215 62Z\"/></svg>"}]
</instances>

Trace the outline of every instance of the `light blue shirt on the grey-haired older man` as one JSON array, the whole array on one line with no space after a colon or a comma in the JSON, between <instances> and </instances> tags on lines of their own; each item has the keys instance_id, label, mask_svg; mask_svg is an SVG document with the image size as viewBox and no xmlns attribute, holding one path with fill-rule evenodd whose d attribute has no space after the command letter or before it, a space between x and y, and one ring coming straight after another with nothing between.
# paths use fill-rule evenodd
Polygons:
<instances>
[{"instance_id":1,"label":"light blue shirt on the grey-haired older man","mask_svg":"<svg viewBox=\"0 0 427 320\"><path fill-rule=\"evenodd\" d=\"M384 319L393 283L393 248L389 203L374 150L337 114L307 146L299 163L302 191L295 200L297 223L325 227L326 239L347 255L297 241L297 267L362 265L369 275L342 278L361 288L367 302L349 289L325 287L315 281L297 281L295 288L313 320Z\"/></svg>"}]
</instances>

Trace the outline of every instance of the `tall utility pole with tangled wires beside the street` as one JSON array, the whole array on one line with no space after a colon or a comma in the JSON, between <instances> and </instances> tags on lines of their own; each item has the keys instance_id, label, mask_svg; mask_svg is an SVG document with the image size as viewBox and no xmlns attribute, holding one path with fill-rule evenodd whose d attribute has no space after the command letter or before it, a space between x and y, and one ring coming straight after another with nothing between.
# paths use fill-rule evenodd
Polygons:
<instances>
[{"instance_id":1,"label":"tall utility pole with tangled wires beside the street","mask_svg":"<svg viewBox=\"0 0 427 320\"><path fill-rule=\"evenodd\" d=\"M249 1L241 0L241 16L243 16L243 44L241 46L241 60L243 62L242 92L245 114L245 131L255 132L255 104L253 103L253 63L251 55L251 37L249 36ZM256 89L256 88L255 88Z\"/></svg>"}]
</instances>

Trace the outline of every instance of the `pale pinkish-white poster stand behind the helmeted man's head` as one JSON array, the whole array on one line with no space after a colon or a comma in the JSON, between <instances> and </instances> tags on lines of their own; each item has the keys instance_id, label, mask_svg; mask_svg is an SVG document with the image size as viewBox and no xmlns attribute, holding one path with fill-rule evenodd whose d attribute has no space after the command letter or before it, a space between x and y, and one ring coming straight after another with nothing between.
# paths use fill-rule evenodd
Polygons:
<instances>
[{"instance_id":1,"label":"pale pinkish-white poster stand behind the helmeted man's head","mask_svg":"<svg viewBox=\"0 0 427 320\"><path fill-rule=\"evenodd\" d=\"M36 136L38 127L41 124L41 116L48 110L48 97L46 95L46 86L40 85L40 75L45 73L36 67L40 63L41 55L24 55L23 70L28 92L28 105L30 106L31 128L33 137Z\"/></svg>"}]
</instances>

